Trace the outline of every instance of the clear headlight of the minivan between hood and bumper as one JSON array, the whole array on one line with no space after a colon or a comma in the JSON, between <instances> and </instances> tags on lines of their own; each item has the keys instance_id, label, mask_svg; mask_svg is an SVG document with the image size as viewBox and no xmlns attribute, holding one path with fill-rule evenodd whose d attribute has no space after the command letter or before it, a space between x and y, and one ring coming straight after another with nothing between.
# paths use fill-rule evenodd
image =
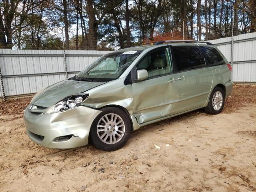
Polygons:
<instances>
[{"instance_id":1,"label":"clear headlight of the minivan between hood and bumper","mask_svg":"<svg viewBox=\"0 0 256 192\"><path fill-rule=\"evenodd\" d=\"M65 98L62 101L59 101L54 106L51 106L44 114L52 114L63 112L69 109L76 108L88 97L88 94L85 95L72 95L68 98Z\"/></svg>"}]
</instances>

